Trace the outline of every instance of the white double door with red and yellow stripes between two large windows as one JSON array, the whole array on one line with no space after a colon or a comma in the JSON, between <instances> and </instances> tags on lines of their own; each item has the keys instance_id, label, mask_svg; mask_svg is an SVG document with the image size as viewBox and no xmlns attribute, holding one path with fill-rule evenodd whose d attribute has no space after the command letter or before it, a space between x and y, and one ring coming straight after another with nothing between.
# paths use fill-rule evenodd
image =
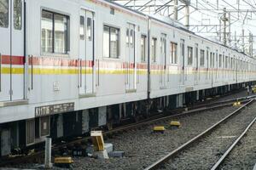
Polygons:
<instances>
[{"instance_id":1,"label":"white double door with red and yellow stripes between two large windows","mask_svg":"<svg viewBox=\"0 0 256 170\"><path fill-rule=\"evenodd\" d=\"M94 13L80 11L79 94L94 92Z\"/></svg>"}]
</instances>

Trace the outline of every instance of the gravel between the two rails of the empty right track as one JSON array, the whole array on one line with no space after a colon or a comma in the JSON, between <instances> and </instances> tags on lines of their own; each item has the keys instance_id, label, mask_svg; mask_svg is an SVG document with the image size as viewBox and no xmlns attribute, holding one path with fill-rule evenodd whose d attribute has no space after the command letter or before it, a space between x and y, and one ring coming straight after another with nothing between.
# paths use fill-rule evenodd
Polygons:
<instances>
[{"instance_id":1,"label":"gravel between the two rails of the empty right track","mask_svg":"<svg viewBox=\"0 0 256 170\"><path fill-rule=\"evenodd\" d=\"M245 110L222 123L214 132L198 143L193 144L178 156L168 161L162 169L211 169L230 144L242 133L256 116L256 105L247 106ZM231 168L230 168L231 169Z\"/></svg>"}]
</instances>

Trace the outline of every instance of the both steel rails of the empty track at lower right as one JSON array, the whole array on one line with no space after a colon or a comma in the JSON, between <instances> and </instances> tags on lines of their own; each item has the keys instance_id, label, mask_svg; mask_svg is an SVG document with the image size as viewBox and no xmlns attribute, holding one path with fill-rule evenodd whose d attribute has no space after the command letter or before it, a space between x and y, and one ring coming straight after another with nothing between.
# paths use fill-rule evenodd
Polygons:
<instances>
[{"instance_id":1,"label":"both steel rails of the empty track at lower right","mask_svg":"<svg viewBox=\"0 0 256 170\"><path fill-rule=\"evenodd\" d=\"M254 97L252 97L254 98ZM250 99L249 101L247 101L247 103L245 103L244 105L242 105L240 108L238 108L236 111L233 111L232 113L230 113L230 115L225 116L222 120L220 120L219 122L215 123L214 125L212 125L212 127L207 128L207 130L205 130L204 132L198 134L197 136L195 136L195 138L190 139L188 142L186 142L185 144L182 144L181 146L179 146L176 150L173 150L172 152L168 153L166 156L161 157L158 161L155 161L153 164L151 164L150 166L146 167L144 170L151 170L151 169L157 169L157 168L161 168L163 167L164 169L168 169L166 168L165 164L170 161L171 159L175 159L175 157L179 154L181 154L184 150L189 149L189 146L193 147L193 144L195 144L196 142L200 142L200 140L203 137L207 137L208 134L212 133L217 127L219 127L221 124L223 124L224 122L227 122L231 117L235 116L236 114L238 114L240 111L242 111L244 108L246 108L247 105L252 104L254 101L254 99ZM255 122L256 117L253 118L253 122ZM223 156L221 156L221 158L216 162L216 164L214 166L212 166L212 170L213 169L217 169L219 167L219 165L221 164L221 162L224 161L225 157L228 156L228 154L230 153L230 150L232 150L235 145L238 143L238 141L242 138L242 136L247 132L248 128L252 126L253 122L250 122L250 124L247 126L246 130L244 130L241 133L241 136L239 136L236 141L231 144L230 148L228 150L226 150L226 152L224 153Z\"/></svg>"}]
</instances>

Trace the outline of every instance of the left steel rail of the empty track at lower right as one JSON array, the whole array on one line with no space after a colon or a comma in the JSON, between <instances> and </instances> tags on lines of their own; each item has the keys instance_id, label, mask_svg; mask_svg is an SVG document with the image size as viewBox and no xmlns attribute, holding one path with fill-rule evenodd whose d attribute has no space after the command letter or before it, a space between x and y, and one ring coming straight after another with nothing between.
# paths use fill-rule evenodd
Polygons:
<instances>
[{"instance_id":1,"label":"left steel rail of the empty track at lower right","mask_svg":"<svg viewBox=\"0 0 256 170\"><path fill-rule=\"evenodd\" d=\"M236 113L241 111L243 108L245 108L247 105L251 104L252 102L253 102L253 99L249 100L245 105L242 105L236 111L233 111L228 116L225 116L222 120L220 120L220 121L216 122L214 125L212 125L212 127L207 128L207 130L205 130L204 132L202 132L202 133L198 134L197 136L195 136L195 138L190 139L188 142L182 144L177 149L172 150L172 152L170 152L166 156L163 156L162 158L160 158L160 160L155 161L153 164L151 164L150 166L146 167L144 170L151 170L151 169L156 169L157 167L160 167L160 165L162 165L166 161L170 160L173 156L176 156L179 152L183 151L190 144L194 144L195 141L198 141L199 139L201 139L201 137L207 135L208 133L211 133L216 127L218 127L218 125L220 125L222 122L227 121L231 116L236 115Z\"/></svg>"}]
</instances>

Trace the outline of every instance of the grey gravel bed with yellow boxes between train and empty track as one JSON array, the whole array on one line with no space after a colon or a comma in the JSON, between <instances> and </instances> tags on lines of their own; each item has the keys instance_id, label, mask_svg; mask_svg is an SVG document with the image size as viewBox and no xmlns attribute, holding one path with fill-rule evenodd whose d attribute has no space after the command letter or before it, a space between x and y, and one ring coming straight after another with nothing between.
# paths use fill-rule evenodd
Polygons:
<instances>
[{"instance_id":1,"label":"grey gravel bed with yellow boxes between train and empty track","mask_svg":"<svg viewBox=\"0 0 256 170\"><path fill-rule=\"evenodd\" d=\"M182 116L172 121L179 121L182 127L167 129L164 134L152 133L153 125L113 136L105 142L112 143L114 150L125 151L125 157L98 160L88 157L74 158L74 169L143 169L161 156L176 149L189 139L212 126L237 107L225 107L218 111L204 111L191 116ZM155 125L167 125L168 122Z\"/></svg>"}]
</instances>

